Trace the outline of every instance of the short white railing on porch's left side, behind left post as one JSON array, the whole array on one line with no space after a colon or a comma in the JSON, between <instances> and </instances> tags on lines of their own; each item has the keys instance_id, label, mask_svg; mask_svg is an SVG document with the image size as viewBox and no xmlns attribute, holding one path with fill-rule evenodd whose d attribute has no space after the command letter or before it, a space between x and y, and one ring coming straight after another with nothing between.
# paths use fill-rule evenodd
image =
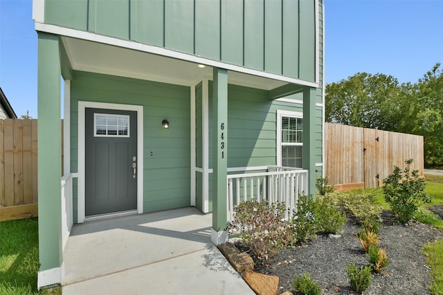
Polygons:
<instances>
[{"instance_id":1,"label":"short white railing on porch's left side, behind left post","mask_svg":"<svg viewBox=\"0 0 443 295\"><path fill-rule=\"evenodd\" d=\"M62 177L62 249L66 245L73 225L72 180L74 177L73 173Z\"/></svg>"}]
</instances>

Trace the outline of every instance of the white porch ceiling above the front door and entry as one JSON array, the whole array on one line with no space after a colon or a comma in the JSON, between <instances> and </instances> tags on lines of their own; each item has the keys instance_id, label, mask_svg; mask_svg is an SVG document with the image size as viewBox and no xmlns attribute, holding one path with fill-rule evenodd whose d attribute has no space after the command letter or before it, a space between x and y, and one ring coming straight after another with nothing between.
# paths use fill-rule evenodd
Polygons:
<instances>
[{"instance_id":1,"label":"white porch ceiling above the front door and entry","mask_svg":"<svg viewBox=\"0 0 443 295\"><path fill-rule=\"evenodd\" d=\"M73 70L186 86L213 77L211 66L199 68L190 61L71 37L62 37L62 42ZM228 83L269 91L287 84L231 70Z\"/></svg>"}]
</instances>

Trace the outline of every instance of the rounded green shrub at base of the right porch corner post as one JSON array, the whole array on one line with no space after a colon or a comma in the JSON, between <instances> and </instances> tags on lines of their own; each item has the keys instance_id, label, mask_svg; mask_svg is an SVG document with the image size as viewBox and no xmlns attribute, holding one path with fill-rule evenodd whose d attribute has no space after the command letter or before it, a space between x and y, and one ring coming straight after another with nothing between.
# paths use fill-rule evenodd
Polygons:
<instances>
[{"instance_id":1,"label":"rounded green shrub at base of the right porch corner post","mask_svg":"<svg viewBox=\"0 0 443 295\"><path fill-rule=\"evenodd\" d=\"M326 234L337 234L346 222L346 213L341 211L328 195L317 196L316 218L318 231Z\"/></svg>"}]
</instances>

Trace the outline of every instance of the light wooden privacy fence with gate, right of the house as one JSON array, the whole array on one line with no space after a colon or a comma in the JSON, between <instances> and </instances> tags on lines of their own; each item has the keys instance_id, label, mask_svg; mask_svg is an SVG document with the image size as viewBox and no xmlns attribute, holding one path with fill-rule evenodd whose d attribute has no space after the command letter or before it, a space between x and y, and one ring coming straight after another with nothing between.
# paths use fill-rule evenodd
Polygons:
<instances>
[{"instance_id":1,"label":"light wooden privacy fence with gate, right of the house","mask_svg":"<svg viewBox=\"0 0 443 295\"><path fill-rule=\"evenodd\" d=\"M423 175L423 136L325 123L325 175L338 191L379 187L410 158Z\"/></svg>"}]
</instances>

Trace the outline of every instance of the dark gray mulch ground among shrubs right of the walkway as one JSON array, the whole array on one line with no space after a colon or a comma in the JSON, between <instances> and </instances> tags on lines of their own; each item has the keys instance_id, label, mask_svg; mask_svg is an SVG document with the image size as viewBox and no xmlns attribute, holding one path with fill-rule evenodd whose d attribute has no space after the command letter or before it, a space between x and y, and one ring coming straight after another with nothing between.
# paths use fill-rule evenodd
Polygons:
<instances>
[{"instance_id":1,"label":"dark gray mulch ground among shrubs right of the walkway","mask_svg":"<svg viewBox=\"0 0 443 295\"><path fill-rule=\"evenodd\" d=\"M443 212L443 207L440 208ZM267 262L257 263L256 272L280 278L279 294L290 290L295 276L307 272L318 283L322 294L354 294L349 287L346 265L368 265L368 258L356 234L359 225L348 218L340 238L318 235L305 245L280 251ZM364 294L431 294L431 269L422 248L427 242L443 238L443 232L420 222L401 225L390 213L383 212L380 246L386 248L389 266L385 273L374 274Z\"/></svg>"}]
</instances>

